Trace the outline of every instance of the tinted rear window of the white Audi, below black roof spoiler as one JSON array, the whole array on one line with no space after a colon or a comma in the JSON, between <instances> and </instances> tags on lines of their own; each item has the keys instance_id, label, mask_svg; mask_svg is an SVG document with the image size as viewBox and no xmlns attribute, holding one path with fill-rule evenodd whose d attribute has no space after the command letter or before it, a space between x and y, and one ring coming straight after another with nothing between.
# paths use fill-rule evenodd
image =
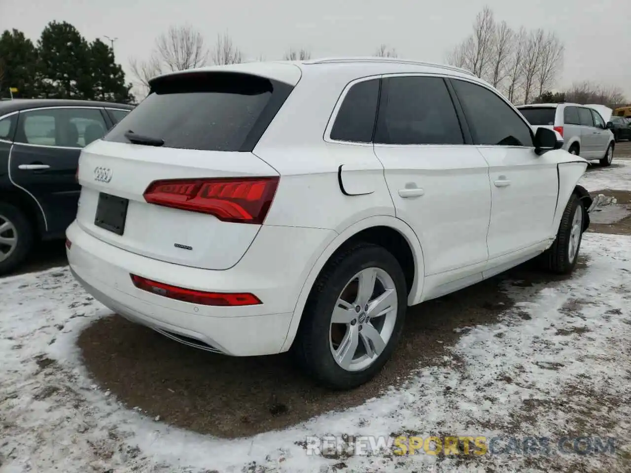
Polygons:
<instances>
[{"instance_id":1,"label":"tinted rear window of the white Audi, below black roof spoiler","mask_svg":"<svg viewBox=\"0 0 631 473\"><path fill-rule=\"evenodd\" d=\"M252 151L291 90L249 74L166 76L105 141L129 143L132 131L163 139L165 148Z\"/></svg>"}]
</instances>

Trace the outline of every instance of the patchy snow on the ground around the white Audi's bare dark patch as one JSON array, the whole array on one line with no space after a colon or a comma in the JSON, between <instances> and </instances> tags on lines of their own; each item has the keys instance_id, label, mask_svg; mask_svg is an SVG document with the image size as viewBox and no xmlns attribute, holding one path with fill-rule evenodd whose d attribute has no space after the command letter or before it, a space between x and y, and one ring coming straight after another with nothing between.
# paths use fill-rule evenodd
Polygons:
<instances>
[{"instance_id":1,"label":"patchy snow on the ground around the white Audi's bare dark patch","mask_svg":"<svg viewBox=\"0 0 631 473\"><path fill-rule=\"evenodd\" d=\"M461 330L453 356L418 371L404 387L234 441L170 428L93 384L74 343L109 310L68 269L0 279L0 471L628 471L631 237L586 234L582 254L586 267L566 281L505 283L515 306L500 322ZM403 432L615 436L618 453L462 459L382 451L331 458L304 449L308 435Z\"/></svg>"}]
</instances>

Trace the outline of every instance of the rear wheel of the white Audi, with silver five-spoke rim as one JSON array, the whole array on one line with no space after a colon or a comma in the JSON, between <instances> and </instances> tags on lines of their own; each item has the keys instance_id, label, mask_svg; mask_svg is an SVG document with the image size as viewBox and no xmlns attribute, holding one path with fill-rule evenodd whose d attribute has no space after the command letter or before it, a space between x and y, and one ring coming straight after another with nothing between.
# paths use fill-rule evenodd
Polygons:
<instances>
[{"instance_id":1,"label":"rear wheel of the white Audi, with silver five-spoke rim","mask_svg":"<svg viewBox=\"0 0 631 473\"><path fill-rule=\"evenodd\" d=\"M360 275L366 284L373 273L377 281L373 293L377 296L368 298L373 307L365 311L366 297L360 295L356 277ZM389 305L377 307L381 289L390 291L383 303ZM401 337L407 306L405 277L396 258L377 245L358 243L341 250L322 269L307 299L292 351L302 368L322 385L336 390L358 387L373 378L390 358ZM390 310L385 312L387 307ZM365 318L375 309L372 318ZM334 310L336 320L344 323L333 322ZM384 343L372 342L379 339ZM351 341L350 347L355 345L355 349L351 353L347 348L347 356L343 356Z\"/></svg>"}]
</instances>

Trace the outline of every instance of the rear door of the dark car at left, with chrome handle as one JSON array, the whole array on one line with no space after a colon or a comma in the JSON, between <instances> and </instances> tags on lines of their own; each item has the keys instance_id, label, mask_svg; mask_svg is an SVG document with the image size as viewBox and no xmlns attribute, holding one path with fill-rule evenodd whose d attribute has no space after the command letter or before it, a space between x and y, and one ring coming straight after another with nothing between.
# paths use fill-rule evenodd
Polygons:
<instances>
[{"instance_id":1,"label":"rear door of the dark car at left, with chrome handle","mask_svg":"<svg viewBox=\"0 0 631 473\"><path fill-rule=\"evenodd\" d=\"M81 186L75 180L81 148L107 127L98 108L51 107L20 112L10 172L44 211L48 237L62 237L73 222Z\"/></svg>"}]
</instances>

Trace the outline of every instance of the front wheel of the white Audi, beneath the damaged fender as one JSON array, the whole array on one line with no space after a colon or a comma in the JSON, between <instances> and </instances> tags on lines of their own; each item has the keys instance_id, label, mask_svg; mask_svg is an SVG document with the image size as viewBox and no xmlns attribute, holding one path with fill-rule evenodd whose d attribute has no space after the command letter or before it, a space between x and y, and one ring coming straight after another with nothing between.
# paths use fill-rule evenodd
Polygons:
<instances>
[{"instance_id":1,"label":"front wheel of the white Audi, beneath the damaged fender","mask_svg":"<svg viewBox=\"0 0 631 473\"><path fill-rule=\"evenodd\" d=\"M581 249L585 213L579 197L572 194L563 211L557 238L542 255L543 263L549 271L569 274L574 270ZM577 219L580 221L577 222Z\"/></svg>"}]
</instances>

